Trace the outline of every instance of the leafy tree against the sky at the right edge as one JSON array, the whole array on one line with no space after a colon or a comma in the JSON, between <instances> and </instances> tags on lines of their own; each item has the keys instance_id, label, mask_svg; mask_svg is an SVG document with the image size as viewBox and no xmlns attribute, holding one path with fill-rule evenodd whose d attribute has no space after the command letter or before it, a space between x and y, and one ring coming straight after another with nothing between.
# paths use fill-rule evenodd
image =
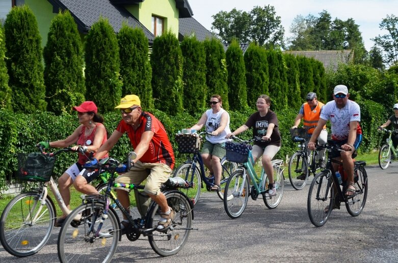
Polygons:
<instances>
[{"instance_id":1,"label":"leafy tree against the sky at the right edge","mask_svg":"<svg viewBox=\"0 0 398 263\"><path fill-rule=\"evenodd\" d=\"M398 17L387 15L380 23L380 29L388 34L373 39L384 51L384 63L394 65L398 62Z\"/></svg>"}]
</instances>

